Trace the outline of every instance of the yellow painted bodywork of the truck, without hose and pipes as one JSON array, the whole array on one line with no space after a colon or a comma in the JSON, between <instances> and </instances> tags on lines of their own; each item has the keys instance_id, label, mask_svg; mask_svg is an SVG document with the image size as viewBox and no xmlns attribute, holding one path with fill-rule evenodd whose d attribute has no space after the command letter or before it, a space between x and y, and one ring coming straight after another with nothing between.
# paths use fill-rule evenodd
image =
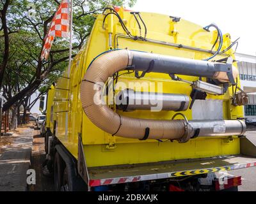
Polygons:
<instances>
[{"instance_id":1,"label":"yellow painted bodywork of the truck, without hose and pipes","mask_svg":"<svg viewBox=\"0 0 256 204\"><path fill-rule=\"evenodd\" d=\"M141 32L142 35L144 34L144 28L141 27L140 31L136 19L129 11L120 9L118 14L122 17L125 25L133 36L140 36ZM159 140L141 141L138 139L112 136L102 131L102 129L97 128L97 126L86 117L80 100L81 81L89 64L102 52L111 49L129 49L198 60L205 59L212 55L211 53L198 50L173 47L168 43L186 45L202 50L211 50L217 38L216 31L205 31L201 25L196 25L182 18L179 22L174 22L172 17L168 15L156 13L140 13L140 15L147 25L147 38L163 43L152 43L150 41L125 38L124 30L118 18L114 15L109 15L102 27L104 15L97 15L90 38L88 38L86 44L72 61L70 74L68 74L68 69L66 69L63 76L56 82L55 87L49 90L47 101L47 128L51 130L51 133L55 133L56 138L60 140L68 152L76 159L80 135L87 168L119 164L157 163L180 159L199 159L240 154L240 139L238 136L200 137L191 139L186 143L165 140L163 142L159 142ZM109 35L109 33L111 33L111 35ZM109 47L109 36L111 36L111 47ZM167 43L164 44L164 42ZM222 49L225 50L230 44L230 34L223 34ZM214 50L216 50L216 47L214 47ZM214 60L217 61L225 57L232 57L234 59L233 50L230 49L225 52L225 54L217 55L214 57ZM233 65L237 66L236 62L234 62ZM125 72L126 71L123 73ZM179 77L189 81L198 80L198 77L180 75ZM170 76L163 73L147 73L145 77L140 79L136 78L134 73L129 73L118 78L118 82L124 82L125 84L131 81L139 83L145 82L146 84L150 82L163 82L163 92L165 93L183 93L188 96L191 93L191 87L188 84L171 80ZM237 82L239 86L239 77ZM134 89L136 90L136 87L134 87ZM221 101L221 105L215 110L204 111L209 111L213 114L222 112L222 119L237 119L238 117L243 117L243 106L233 106L231 96L232 87L229 87L228 91L221 96L208 94L206 98L207 101L212 101L212 103L215 103L214 101ZM220 108L222 108L222 110L220 110ZM171 120L176 113L173 111L150 112L150 110L122 112L115 108L114 110L120 113L120 115L141 119ZM188 120L193 120L193 110L188 109L182 113L186 115ZM56 121L56 124L54 124L54 121ZM111 126L111 121L109 121L109 126Z\"/></svg>"}]
</instances>

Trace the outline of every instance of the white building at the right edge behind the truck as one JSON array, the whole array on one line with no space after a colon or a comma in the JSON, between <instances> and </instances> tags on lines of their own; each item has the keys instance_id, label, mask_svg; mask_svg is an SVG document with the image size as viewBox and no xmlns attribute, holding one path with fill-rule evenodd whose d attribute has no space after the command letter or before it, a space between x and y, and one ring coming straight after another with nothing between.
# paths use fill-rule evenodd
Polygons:
<instances>
[{"instance_id":1,"label":"white building at the right edge behind the truck","mask_svg":"<svg viewBox=\"0 0 256 204\"><path fill-rule=\"evenodd\" d=\"M236 54L241 88L248 94L248 105L244 106L244 117L256 119L256 56Z\"/></svg>"}]
</instances>

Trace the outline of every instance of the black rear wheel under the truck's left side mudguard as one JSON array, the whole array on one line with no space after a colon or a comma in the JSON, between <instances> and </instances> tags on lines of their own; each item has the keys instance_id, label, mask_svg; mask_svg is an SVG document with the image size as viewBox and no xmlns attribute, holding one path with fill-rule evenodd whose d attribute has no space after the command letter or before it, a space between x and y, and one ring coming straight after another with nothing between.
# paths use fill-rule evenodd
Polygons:
<instances>
[{"instance_id":1,"label":"black rear wheel under the truck's left side mudguard","mask_svg":"<svg viewBox=\"0 0 256 204\"><path fill-rule=\"evenodd\" d=\"M63 182L63 171L65 164L61 159L61 156L56 152L54 156L54 187L55 191L60 191Z\"/></svg>"}]
</instances>

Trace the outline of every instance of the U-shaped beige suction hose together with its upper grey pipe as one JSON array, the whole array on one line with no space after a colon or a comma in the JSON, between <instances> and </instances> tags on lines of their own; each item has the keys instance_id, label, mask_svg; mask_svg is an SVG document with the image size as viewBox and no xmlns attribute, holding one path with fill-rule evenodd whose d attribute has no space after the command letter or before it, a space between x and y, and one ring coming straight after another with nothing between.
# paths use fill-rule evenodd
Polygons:
<instances>
[{"instance_id":1,"label":"U-shaped beige suction hose together with its upper grey pipe","mask_svg":"<svg viewBox=\"0 0 256 204\"><path fill-rule=\"evenodd\" d=\"M152 61L154 61L154 67L150 67ZM109 52L93 61L81 83L81 102L88 119L107 133L125 138L138 138L140 140L147 138L170 139L187 142L189 138L198 135L198 127L196 126L196 129L193 128L187 120L154 120L124 117L113 112L104 103L102 83L105 84L108 77L112 77L116 72L123 71L127 67L131 68L131 66L134 71L148 71L148 68L150 68L150 71L159 73L179 74L181 71L184 75L212 78L218 76L216 72L221 70L215 69L214 63L206 61L193 61L179 57L168 57L129 50ZM193 69L194 67L196 67L196 70ZM221 75L221 80L227 80L225 77L227 76L224 75L223 77ZM245 132L244 122L240 120L234 121L236 126L239 127L237 128L239 131L236 131L236 134L232 132L232 135L243 135ZM211 133L213 131L214 129L209 130ZM208 132L205 131L205 133ZM218 133L215 135L218 135Z\"/></svg>"}]
</instances>

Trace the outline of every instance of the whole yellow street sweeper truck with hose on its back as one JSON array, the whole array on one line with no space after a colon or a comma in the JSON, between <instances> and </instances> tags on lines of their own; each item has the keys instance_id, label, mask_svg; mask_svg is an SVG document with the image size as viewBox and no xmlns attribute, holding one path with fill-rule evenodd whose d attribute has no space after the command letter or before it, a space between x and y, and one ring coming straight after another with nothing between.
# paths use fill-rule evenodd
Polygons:
<instances>
[{"instance_id":1,"label":"whole yellow street sweeper truck with hose on its back","mask_svg":"<svg viewBox=\"0 0 256 204\"><path fill-rule=\"evenodd\" d=\"M256 165L230 34L106 8L47 94L44 170L63 191L237 190Z\"/></svg>"}]
</instances>

